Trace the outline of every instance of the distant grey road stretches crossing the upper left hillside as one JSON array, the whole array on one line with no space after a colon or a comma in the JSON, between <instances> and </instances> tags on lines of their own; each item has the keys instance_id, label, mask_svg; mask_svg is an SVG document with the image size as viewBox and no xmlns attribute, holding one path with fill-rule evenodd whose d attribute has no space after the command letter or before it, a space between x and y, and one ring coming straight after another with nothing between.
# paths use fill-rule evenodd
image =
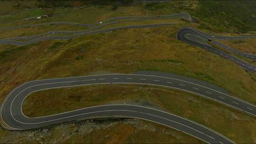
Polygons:
<instances>
[{"instance_id":1,"label":"distant grey road stretches crossing the upper left hillside","mask_svg":"<svg viewBox=\"0 0 256 144\"><path fill-rule=\"evenodd\" d=\"M49 40L49 39L70 39L70 38L75 38L75 37L79 37L82 35L106 33L106 32L111 32L112 30L119 30L119 29L160 27L160 26L165 26L165 24L115 27L115 28L110 28L110 29L106 29L106 30L93 31L93 30L97 30L99 28L102 28L102 27L105 27L108 25L125 22L125 21L120 21L120 20L124 20L124 19L129 20L129 21L140 21L140 20L149 20L149 19L168 19L168 18L186 19L188 21L192 20L192 18L190 17L190 15L188 13L176 13L176 14L172 14L172 15L159 15L159 16L115 17L115 18L110 18L110 19L102 21L102 24L100 24L100 23L77 24L77 23L70 23L70 22L54 22L54 23L42 23L42 24L34 24L34 25L26 25L26 26L17 26L17 27L5 27L5 28L0 28L0 30L8 30L8 29L15 29L15 28L22 28L22 27L37 27L37 26L45 26L45 25L46 26L48 26L48 25L74 25L74 26L78 26L78 27L92 27L92 28L87 29L87 30L80 30L80 31L50 31L45 34L40 34L40 35L36 35L36 36L21 36L21 37L4 38L4 39L0 39L0 44L29 45L32 43L36 43L38 41L44 41L44 40ZM172 23L171 25L174 25L174 23ZM49 35L57 35L57 34L75 34L75 35L73 35L73 36L49 36ZM17 40L29 40L29 41L19 42Z\"/></svg>"}]
</instances>

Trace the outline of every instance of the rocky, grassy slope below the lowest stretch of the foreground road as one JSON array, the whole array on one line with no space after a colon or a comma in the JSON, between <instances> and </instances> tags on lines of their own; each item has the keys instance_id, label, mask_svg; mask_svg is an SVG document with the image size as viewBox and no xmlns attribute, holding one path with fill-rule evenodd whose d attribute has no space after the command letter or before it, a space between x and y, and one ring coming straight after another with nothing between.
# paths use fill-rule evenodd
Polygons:
<instances>
[{"instance_id":1,"label":"rocky, grassy slope below the lowest stretch of the foreground road","mask_svg":"<svg viewBox=\"0 0 256 144\"><path fill-rule=\"evenodd\" d=\"M125 129L125 131L124 131ZM158 138L155 138L155 137ZM1 144L203 144L172 128L138 119L86 120L33 131L0 129Z\"/></svg>"}]
</instances>

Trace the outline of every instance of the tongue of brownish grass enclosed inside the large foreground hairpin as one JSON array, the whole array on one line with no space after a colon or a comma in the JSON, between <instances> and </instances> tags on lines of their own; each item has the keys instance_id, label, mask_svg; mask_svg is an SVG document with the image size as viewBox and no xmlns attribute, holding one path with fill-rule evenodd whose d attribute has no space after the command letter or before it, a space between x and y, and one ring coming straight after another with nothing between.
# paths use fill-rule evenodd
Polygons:
<instances>
[{"instance_id":1,"label":"tongue of brownish grass enclosed inside the large foreground hairpin","mask_svg":"<svg viewBox=\"0 0 256 144\"><path fill-rule=\"evenodd\" d=\"M207 126L239 144L256 141L255 117L210 99L161 87L111 84L38 91L25 100L23 111L28 117L38 117L115 103L165 110Z\"/></svg>"}]
</instances>

